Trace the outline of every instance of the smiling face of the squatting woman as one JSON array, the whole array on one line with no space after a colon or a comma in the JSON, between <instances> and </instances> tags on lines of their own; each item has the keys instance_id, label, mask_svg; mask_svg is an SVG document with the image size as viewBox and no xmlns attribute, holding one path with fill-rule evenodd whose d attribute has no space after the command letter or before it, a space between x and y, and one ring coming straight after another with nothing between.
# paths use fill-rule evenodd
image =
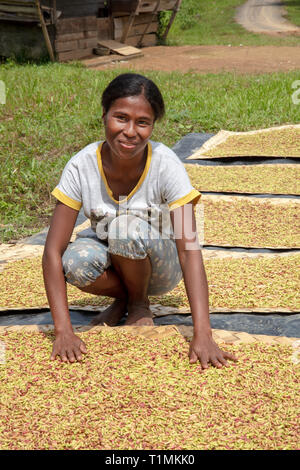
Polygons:
<instances>
[{"instance_id":1,"label":"smiling face of the squatting woman","mask_svg":"<svg viewBox=\"0 0 300 470\"><path fill-rule=\"evenodd\" d=\"M154 127L154 112L144 95L115 100L103 113L106 142L122 160L142 156Z\"/></svg>"}]
</instances>

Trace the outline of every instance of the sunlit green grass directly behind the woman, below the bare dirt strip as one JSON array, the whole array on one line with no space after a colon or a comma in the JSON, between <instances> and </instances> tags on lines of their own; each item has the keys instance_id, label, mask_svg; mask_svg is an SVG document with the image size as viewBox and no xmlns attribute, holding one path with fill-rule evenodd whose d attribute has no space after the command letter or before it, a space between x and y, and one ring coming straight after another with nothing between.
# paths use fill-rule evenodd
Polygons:
<instances>
[{"instance_id":1,"label":"sunlit green grass directly behind the woman, below the bare dirt strip","mask_svg":"<svg viewBox=\"0 0 300 470\"><path fill-rule=\"evenodd\" d=\"M119 73L76 63L0 67L7 91L6 104L0 105L0 242L48 225L54 206L50 192L67 160L104 138L101 93ZM160 87L167 107L152 138L169 146L189 132L299 122L300 108L291 100L297 72L147 75Z\"/></svg>"}]
</instances>

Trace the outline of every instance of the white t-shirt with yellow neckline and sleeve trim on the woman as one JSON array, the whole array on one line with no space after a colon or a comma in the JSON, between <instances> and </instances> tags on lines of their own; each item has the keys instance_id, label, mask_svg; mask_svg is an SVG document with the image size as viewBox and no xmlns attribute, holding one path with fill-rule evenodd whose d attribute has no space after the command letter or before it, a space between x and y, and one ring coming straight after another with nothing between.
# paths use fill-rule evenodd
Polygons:
<instances>
[{"instance_id":1,"label":"white t-shirt with yellow neckline and sleeve trim on the woman","mask_svg":"<svg viewBox=\"0 0 300 470\"><path fill-rule=\"evenodd\" d=\"M164 144L149 141L142 176L131 193L117 201L103 171L102 144L93 142L68 161L53 196L78 211L83 206L94 234L102 240L107 238L109 221L121 213L141 217L173 238L170 210L191 201L196 204L201 197L177 155Z\"/></svg>"}]
</instances>

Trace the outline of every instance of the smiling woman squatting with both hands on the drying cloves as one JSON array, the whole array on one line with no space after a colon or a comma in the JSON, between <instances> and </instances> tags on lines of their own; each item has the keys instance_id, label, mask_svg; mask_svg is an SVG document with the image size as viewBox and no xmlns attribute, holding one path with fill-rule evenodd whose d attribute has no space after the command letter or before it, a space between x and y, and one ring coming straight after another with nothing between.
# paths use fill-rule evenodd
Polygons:
<instances>
[{"instance_id":1,"label":"smiling woman squatting with both hands on the drying cloves","mask_svg":"<svg viewBox=\"0 0 300 470\"><path fill-rule=\"evenodd\" d=\"M203 368L227 366L234 355L212 339L208 286L193 206L200 193L165 145L150 141L164 102L146 77L122 74L102 95L105 142L94 142L66 165L43 255L45 288L56 339L51 359L82 359L86 346L73 332L66 284L114 298L92 322L153 325L148 295L172 290L184 278L194 323L189 358ZM92 229L69 247L83 206Z\"/></svg>"}]
</instances>

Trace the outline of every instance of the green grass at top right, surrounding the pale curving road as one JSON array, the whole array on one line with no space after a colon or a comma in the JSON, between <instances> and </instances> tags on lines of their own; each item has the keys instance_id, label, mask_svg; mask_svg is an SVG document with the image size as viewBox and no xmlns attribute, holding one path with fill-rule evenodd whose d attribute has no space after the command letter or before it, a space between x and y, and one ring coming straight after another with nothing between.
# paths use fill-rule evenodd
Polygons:
<instances>
[{"instance_id":1,"label":"green grass at top right, surrounding the pale curving road","mask_svg":"<svg viewBox=\"0 0 300 470\"><path fill-rule=\"evenodd\" d=\"M183 0L168 34L168 45L300 45L299 36L276 37L246 31L234 19L237 7L243 3L245 0ZM287 0L285 3L289 20L300 24L299 1Z\"/></svg>"}]
</instances>

